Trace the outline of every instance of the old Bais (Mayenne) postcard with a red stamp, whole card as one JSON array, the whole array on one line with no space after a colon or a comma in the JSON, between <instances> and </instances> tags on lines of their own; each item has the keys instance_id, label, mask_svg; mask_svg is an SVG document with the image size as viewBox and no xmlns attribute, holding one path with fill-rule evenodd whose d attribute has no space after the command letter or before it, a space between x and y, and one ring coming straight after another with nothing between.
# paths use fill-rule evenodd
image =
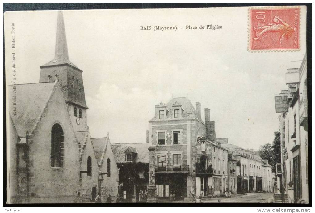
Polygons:
<instances>
[{"instance_id":1,"label":"old Bais (Mayenne) postcard with a red stamp, whole card","mask_svg":"<svg viewBox=\"0 0 315 213\"><path fill-rule=\"evenodd\" d=\"M310 202L306 6L11 11L4 38L7 204Z\"/></svg>"}]
</instances>

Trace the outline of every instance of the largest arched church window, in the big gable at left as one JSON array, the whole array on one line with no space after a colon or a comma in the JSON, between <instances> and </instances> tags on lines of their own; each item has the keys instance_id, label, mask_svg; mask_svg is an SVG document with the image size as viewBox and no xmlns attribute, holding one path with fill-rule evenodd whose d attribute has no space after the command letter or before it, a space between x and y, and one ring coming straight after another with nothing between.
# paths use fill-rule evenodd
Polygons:
<instances>
[{"instance_id":1,"label":"largest arched church window, in the big gable at left","mask_svg":"<svg viewBox=\"0 0 315 213\"><path fill-rule=\"evenodd\" d=\"M56 123L51 129L51 166L63 167L63 130L62 127Z\"/></svg>"}]
</instances>

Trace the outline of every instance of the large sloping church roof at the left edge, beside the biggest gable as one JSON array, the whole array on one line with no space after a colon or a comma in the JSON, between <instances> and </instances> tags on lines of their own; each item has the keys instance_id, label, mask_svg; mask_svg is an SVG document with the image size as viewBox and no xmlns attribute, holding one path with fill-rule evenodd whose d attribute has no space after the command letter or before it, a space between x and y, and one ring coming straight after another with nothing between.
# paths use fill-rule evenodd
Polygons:
<instances>
[{"instance_id":1,"label":"large sloping church roof at the left edge, beside the biggest gable","mask_svg":"<svg viewBox=\"0 0 315 213\"><path fill-rule=\"evenodd\" d=\"M26 131L31 133L41 111L50 98L54 85L55 82L46 82L8 86L8 108L18 136L25 137ZM16 94L16 105L13 105L14 94ZM16 107L16 116L13 107Z\"/></svg>"}]
</instances>

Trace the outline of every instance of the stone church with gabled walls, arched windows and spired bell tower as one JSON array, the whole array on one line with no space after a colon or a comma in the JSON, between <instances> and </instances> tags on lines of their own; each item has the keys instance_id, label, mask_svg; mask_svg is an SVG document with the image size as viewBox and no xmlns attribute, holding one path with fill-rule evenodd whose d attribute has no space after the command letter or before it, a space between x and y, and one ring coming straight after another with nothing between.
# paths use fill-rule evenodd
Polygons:
<instances>
[{"instance_id":1,"label":"stone church with gabled walls, arched windows and spired bell tower","mask_svg":"<svg viewBox=\"0 0 315 213\"><path fill-rule=\"evenodd\" d=\"M8 87L14 94L7 103L8 203L94 201L98 192L106 193L106 184L117 187L117 181L105 181L101 190L102 164L87 126L83 71L69 60L61 11L54 59L40 68L39 83ZM110 152L103 153L114 162ZM113 165L111 178L117 180Z\"/></svg>"}]
</instances>

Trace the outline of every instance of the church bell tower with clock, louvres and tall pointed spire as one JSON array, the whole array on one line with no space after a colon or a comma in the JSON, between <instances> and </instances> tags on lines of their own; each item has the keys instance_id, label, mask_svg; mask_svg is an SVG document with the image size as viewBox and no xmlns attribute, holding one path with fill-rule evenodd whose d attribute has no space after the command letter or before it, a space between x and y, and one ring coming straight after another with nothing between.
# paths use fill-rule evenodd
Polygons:
<instances>
[{"instance_id":1,"label":"church bell tower with clock, louvres and tall pointed spire","mask_svg":"<svg viewBox=\"0 0 315 213\"><path fill-rule=\"evenodd\" d=\"M61 83L61 88L68 105L74 131L87 131L86 110L82 70L69 60L66 30L62 11L58 11L55 56L50 62L40 66L39 82Z\"/></svg>"}]
</instances>

